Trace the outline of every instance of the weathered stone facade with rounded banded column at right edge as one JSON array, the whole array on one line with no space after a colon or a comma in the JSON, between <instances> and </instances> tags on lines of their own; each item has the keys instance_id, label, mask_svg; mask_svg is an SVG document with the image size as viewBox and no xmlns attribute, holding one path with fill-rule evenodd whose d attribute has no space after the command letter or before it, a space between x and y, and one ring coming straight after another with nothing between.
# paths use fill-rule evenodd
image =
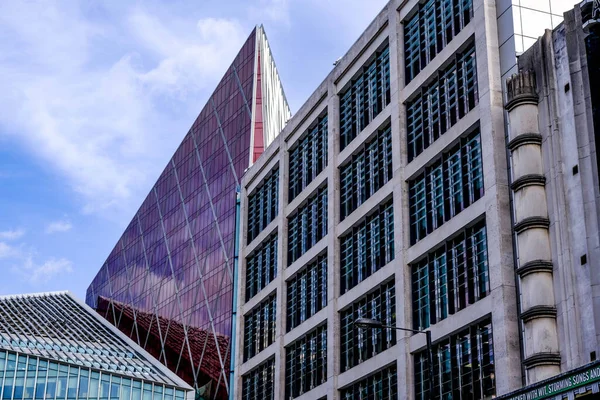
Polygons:
<instances>
[{"instance_id":1,"label":"weathered stone facade with rounded banded column at right edge","mask_svg":"<svg viewBox=\"0 0 600 400\"><path fill-rule=\"evenodd\" d=\"M508 82L515 220L537 218L535 229L516 239L520 313L529 320L524 348L545 360L528 365L527 384L597 359L600 197L592 93L598 87L591 80L598 67L597 59L594 66L589 61L598 48L590 51L586 40L599 29L596 22L584 31L590 19L584 8L592 2L547 30ZM537 235L535 244L521 244L525 232Z\"/></svg>"}]
</instances>

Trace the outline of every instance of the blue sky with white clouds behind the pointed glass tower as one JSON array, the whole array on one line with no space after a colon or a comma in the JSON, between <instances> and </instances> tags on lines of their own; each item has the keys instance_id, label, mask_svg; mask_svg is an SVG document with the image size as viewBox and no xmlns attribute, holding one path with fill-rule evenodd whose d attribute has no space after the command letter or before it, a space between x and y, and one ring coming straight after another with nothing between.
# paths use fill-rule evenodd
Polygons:
<instances>
[{"instance_id":1,"label":"blue sky with white clouds behind the pointed glass tower","mask_svg":"<svg viewBox=\"0 0 600 400\"><path fill-rule=\"evenodd\" d=\"M294 112L385 3L0 2L0 295L84 298L256 24Z\"/></svg>"}]
</instances>

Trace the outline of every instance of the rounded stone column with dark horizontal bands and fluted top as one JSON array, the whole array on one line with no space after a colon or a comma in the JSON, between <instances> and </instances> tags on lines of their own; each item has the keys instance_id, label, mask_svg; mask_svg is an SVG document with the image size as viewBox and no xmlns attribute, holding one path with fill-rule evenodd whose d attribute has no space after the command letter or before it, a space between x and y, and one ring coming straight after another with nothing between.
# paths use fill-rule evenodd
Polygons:
<instances>
[{"instance_id":1,"label":"rounded stone column with dark horizontal bands and fluted top","mask_svg":"<svg viewBox=\"0 0 600 400\"><path fill-rule=\"evenodd\" d=\"M509 78L506 85L519 317L523 327L523 365L527 370L526 383L530 385L560 373L550 221L535 77L533 72L522 71Z\"/></svg>"}]
</instances>

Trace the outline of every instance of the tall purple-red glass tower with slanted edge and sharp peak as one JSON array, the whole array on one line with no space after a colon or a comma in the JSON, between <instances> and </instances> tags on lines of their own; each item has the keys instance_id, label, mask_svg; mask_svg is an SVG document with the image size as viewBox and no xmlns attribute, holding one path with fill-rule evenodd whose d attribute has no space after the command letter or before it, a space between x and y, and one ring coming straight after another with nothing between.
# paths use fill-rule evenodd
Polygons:
<instances>
[{"instance_id":1,"label":"tall purple-red glass tower with slanted edge and sharp peak","mask_svg":"<svg viewBox=\"0 0 600 400\"><path fill-rule=\"evenodd\" d=\"M87 291L206 399L229 391L236 188L290 116L257 27Z\"/></svg>"}]
</instances>

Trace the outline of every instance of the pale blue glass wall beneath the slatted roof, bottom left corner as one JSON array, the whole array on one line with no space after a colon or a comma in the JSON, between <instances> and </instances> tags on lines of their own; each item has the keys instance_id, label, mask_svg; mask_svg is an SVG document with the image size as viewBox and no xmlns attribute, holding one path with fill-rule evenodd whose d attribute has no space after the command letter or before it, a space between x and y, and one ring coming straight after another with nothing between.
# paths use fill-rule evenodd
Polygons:
<instances>
[{"instance_id":1,"label":"pale blue glass wall beneath the slatted roof, bottom left corner","mask_svg":"<svg viewBox=\"0 0 600 400\"><path fill-rule=\"evenodd\" d=\"M0 399L183 400L186 393L152 381L117 376L0 350Z\"/></svg>"}]
</instances>

